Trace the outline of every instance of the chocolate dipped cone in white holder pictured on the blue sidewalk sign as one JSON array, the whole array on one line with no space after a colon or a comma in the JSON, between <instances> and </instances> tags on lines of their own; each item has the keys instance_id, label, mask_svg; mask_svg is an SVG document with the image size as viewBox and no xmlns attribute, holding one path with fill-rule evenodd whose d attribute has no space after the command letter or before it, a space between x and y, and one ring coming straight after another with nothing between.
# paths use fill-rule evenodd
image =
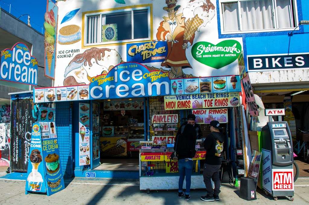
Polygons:
<instances>
[{"instance_id":1,"label":"chocolate dipped cone in white holder pictured on the blue sidewalk sign","mask_svg":"<svg viewBox=\"0 0 309 205\"><path fill-rule=\"evenodd\" d=\"M32 191L40 191L43 182L43 177L38 172L39 165L42 162L41 152L37 149L34 149L31 151L29 158L32 164L32 171L27 177L28 187Z\"/></svg>"}]
</instances>

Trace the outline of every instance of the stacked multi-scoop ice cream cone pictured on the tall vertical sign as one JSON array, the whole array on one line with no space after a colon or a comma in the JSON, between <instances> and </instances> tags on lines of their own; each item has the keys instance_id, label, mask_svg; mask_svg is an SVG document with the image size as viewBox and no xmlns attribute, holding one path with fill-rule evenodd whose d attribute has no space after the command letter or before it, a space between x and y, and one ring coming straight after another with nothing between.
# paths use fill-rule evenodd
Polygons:
<instances>
[{"instance_id":1,"label":"stacked multi-scoop ice cream cone pictured on the tall vertical sign","mask_svg":"<svg viewBox=\"0 0 309 205\"><path fill-rule=\"evenodd\" d=\"M50 74L51 67L52 67L52 61L53 61L53 55L54 55L54 44L55 44L55 27L56 27L56 21L55 21L55 14L53 10L47 11L44 15L44 47L45 47L45 53L46 53L46 59L47 59L47 66L48 71Z\"/></svg>"}]
</instances>

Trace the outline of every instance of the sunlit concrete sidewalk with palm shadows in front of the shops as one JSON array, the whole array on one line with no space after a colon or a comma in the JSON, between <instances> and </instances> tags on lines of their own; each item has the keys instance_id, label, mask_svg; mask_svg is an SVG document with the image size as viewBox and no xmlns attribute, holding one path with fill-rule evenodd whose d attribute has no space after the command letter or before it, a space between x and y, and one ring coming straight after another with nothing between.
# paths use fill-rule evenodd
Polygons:
<instances>
[{"instance_id":1,"label":"sunlit concrete sidewalk with palm shadows in front of the shops","mask_svg":"<svg viewBox=\"0 0 309 205\"><path fill-rule=\"evenodd\" d=\"M200 196L204 190L192 190L192 199L178 199L177 190L145 191L139 190L138 180L87 180L84 178L66 179L66 189L46 196L45 194L25 195L25 181L0 180L0 204L308 204L309 179L298 179L295 183L294 201L284 197L274 201L272 197L257 193L257 200L246 201L237 195L239 188L224 184L221 187L220 201L204 202Z\"/></svg>"}]
</instances>

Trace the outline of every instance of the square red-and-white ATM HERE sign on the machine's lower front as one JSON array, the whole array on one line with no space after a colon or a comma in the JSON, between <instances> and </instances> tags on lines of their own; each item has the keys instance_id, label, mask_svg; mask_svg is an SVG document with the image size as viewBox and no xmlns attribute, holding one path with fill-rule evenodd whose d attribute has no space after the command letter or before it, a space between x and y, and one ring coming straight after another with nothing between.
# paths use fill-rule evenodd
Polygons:
<instances>
[{"instance_id":1,"label":"square red-and-white ATM HERE sign on the machine's lower front","mask_svg":"<svg viewBox=\"0 0 309 205\"><path fill-rule=\"evenodd\" d=\"M293 169L273 169L272 179L273 191L294 190Z\"/></svg>"}]
</instances>

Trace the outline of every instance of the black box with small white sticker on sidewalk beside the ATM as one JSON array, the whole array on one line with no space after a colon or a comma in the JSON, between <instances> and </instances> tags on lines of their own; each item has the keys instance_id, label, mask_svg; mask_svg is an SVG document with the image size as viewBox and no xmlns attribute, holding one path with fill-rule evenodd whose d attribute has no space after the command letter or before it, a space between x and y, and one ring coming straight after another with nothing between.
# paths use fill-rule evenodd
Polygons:
<instances>
[{"instance_id":1,"label":"black box with small white sticker on sidewalk beside the ATM","mask_svg":"<svg viewBox=\"0 0 309 205\"><path fill-rule=\"evenodd\" d=\"M239 197L246 199L247 201L256 199L255 183L254 179L250 177L240 178L240 193Z\"/></svg>"}]
</instances>

